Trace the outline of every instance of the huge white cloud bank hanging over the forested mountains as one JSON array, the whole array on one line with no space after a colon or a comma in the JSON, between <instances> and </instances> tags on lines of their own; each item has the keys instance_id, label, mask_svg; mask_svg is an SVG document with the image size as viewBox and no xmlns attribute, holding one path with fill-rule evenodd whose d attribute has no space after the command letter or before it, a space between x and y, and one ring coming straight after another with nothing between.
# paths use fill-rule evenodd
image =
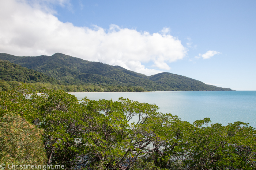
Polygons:
<instances>
[{"instance_id":1,"label":"huge white cloud bank hanging over the forested mountains","mask_svg":"<svg viewBox=\"0 0 256 170\"><path fill-rule=\"evenodd\" d=\"M54 2L68 5L69 0ZM76 27L59 21L49 11L25 0L0 1L0 52L18 56L60 52L146 75L162 72L157 69L170 70L168 63L187 54L187 48L169 34L169 28L150 34L114 24L107 30L97 25ZM156 69L145 68L142 63L147 62L153 62Z\"/></svg>"}]
</instances>

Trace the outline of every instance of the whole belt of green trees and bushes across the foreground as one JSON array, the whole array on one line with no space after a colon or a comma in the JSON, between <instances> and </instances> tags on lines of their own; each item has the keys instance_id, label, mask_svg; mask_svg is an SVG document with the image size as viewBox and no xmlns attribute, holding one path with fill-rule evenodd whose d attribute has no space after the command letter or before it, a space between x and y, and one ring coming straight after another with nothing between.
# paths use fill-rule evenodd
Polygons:
<instances>
[{"instance_id":1,"label":"whole belt of green trees and bushes across the foreground","mask_svg":"<svg viewBox=\"0 0 256 170\"><path fill-rule=\"evenodd\" d=\"M61 90L37 91L26 84L1 91L1 166L256 169L256 130L248 123L223 126L204 118L191 124L158 109L124 98L78 101Z\"/></svg>"}]
</instances>

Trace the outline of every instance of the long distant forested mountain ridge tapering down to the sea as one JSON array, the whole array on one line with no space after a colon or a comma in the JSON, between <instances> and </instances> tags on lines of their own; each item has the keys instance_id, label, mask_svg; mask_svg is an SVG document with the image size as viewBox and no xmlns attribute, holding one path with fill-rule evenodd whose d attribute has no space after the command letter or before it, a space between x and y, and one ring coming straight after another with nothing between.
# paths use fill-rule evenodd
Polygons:
<instances>
[{"instance_id":1,"label":"long distant forested mountain ridge tapering down to the sea","mask_svg":"<svg viewBox=\"0 0 256 170\"><path fill-rule=\"evenodd\" d=\"M100 62L56 53L52 56L14 56L0 54L1 60L42 72L66 84L102 84L107 86L140 86L148 91L157 90L231 90L207 85L195 79L168 72L146 76L129 71L120 66L110 66Z\"/></svg>"}]
</instances>

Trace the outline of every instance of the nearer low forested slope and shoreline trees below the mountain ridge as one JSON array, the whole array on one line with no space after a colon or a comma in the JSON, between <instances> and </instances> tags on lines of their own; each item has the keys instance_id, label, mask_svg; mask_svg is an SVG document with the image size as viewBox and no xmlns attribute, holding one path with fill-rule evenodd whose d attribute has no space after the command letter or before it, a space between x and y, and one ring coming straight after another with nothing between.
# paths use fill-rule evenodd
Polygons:
<instances>
[{"instance_id":1,"label":"nearer low forested slope and shoreline trees below the mountain ridge","mask_svg":"<svg viewBox=\"0 0 256 170\"><path fill-rule=\"evenodd\" d=\"M11 90L20 86L22 83L29 83L37 88L37 90L48 88L64 90L65 92L145 91L142 87L134 86L107 86L102 84L70 85L38 71L10 63L7 60L0 60L0 91Z\"/></svg>"}]
</instances>

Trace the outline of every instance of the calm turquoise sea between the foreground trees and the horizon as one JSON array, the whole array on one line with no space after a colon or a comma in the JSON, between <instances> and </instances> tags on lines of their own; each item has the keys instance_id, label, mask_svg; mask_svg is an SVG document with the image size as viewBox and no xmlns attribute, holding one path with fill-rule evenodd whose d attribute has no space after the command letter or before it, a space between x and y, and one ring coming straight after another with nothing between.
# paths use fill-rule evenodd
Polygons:
<instances>
[{"instance_id":1,"label":"calm turquoise sea between the foreground trees and the horizon","mask_svg":"<svg viewBox=\"0 0 256 170\"><path fill-rule=\"evenodd\" d=\"M241 121L256 127L256 91L157 91L157 92L81 92L70 93L79 100L128 98L138 102L154 103L159 112L178 115L193 123L210 118L211 123Z\"/></svg>"}]
</instances>

